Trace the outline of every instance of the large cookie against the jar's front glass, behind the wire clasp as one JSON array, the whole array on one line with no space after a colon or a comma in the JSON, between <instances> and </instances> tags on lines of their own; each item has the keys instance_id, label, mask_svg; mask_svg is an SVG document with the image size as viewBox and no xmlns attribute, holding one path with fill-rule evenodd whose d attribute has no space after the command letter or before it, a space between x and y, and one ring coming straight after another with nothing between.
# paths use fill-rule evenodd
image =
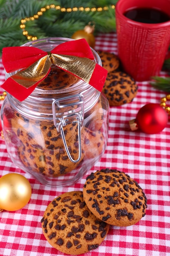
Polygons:
<instances>
[{"instance_id":1,"label":"large cookie against the jar's front glass, behind the wire clasp","mask_svg":"<svg viewBox=\"0 0 170 256\"><path fill-rule=\"evenodd\" d=\"M18 113L15 113L11 124L18 138L18 156L30 172L58 177L71 172L79 164L71 162L68 158L61 134L57 132L54 124L26 119ZM72 123L63 128L73 159L77 159L79 155L77 129L77 124ZM82 158L83 156L82 152Z\"/></svg>"}]
</instances>

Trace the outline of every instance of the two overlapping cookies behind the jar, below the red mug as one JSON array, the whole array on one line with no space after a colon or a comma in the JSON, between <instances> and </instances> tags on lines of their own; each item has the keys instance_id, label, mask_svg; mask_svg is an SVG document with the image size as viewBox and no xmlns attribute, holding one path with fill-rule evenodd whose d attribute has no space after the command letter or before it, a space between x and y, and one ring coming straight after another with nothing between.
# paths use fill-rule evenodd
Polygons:
<instances>
[{"instance_id":1,"label":"two overlapping cookies behind the jar, below the red mug","mask_svg":"<svg viewBox=\"0 0 170 256\"><path fill-rule=\"evenodd\" d=\"M108 71L103 87L110 106L121 106L130 103L136 96L138 86L128 74L120 71L119 58L109 52L97 52L102 60L102 66Z\"/></svg>"}]
</instances>

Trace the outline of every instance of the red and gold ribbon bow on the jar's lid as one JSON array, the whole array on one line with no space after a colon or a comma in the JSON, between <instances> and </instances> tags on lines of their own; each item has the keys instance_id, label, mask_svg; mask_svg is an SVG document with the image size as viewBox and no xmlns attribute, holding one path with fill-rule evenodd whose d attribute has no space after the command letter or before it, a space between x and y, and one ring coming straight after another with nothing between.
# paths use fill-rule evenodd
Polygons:
<instances>
[{"instance_id":1,"label":"red and gold ribbon bow on the jar's lid","mask_svg":"<svg viewBox=\"0 0 170 256\"><path fill-rule=\"evenodd\" d=\"M60 58L63 56L65 65L62 64L62 58ZM76 61L73 63L75 59ZM42 60L44 65L42 65ZM57 63L57 60L60 64ZM50 72L51 65L55 64L57 67L79 77L101 92L106 80L107 70L93 60L93 53L85 39L72 40L57 45L50 53L29 46L5 47L2 49L2 63L7 73L15 72L15 74L4 82L2 88L12 94L13 97L22 101L33 92L40 81L46 78ZM45 66L47 72L44 74L44 71L42 72L39 68L38 74L36 74L36 77L33 77L33 74L31 76L27 72L31 65L33 67L36 67L36 65L42 66L42 70ZM73 72L73 65L76 67L76 72ZM20 71L16 73L18 70Z\"/></svg>"}]
</instances>

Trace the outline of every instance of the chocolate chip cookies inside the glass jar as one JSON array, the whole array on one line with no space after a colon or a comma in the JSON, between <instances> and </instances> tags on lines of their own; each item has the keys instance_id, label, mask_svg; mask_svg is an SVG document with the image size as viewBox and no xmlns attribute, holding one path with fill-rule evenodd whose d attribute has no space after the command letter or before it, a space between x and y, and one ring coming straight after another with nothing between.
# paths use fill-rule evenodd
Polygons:
<instances>
[{"instance_id":1,"label":"chocolate chip cookies inside the glass jar","mask_svg":"<svg viewBox=\"0 0 170 256\"><path fill-rule=\"evenodd\" d=\"M36 99L33 106L30 104L31 114L36 113L37 115L39 113L39 115L35 118L29 113L23 115L24 112L13 111L11 130L13 137L18 141L16 145L18 162L22 164L22 169L39 177L41 182L44 176L57 180L57 177L70 174L71 171L73 171L74 176L82 166L90 166L94 159L99 159L104 152L106 145L104 129L107 125L108 113L102 100L103 95L84 113L84 122L81 127L82 157L79 162L71 162L68 158L61 133L57 131L53 119L51 119L53 98L60 99L61 97L60 94L59 96L55 94L55 90L57 92L63 90L62 95L67 97L68 92L64 90L71 90L78 80L79 78L64 70L51 67L49 75L37 86L40 89L40 94L42 91L47 91L44 94L45 100L44 98L42 100L43 104L40 106ZM48 98L51 101L48 101ZM72 106L70 106L70 110L71 108ZM64 110L59 110L56 107L59 117L65 115L62 111ZM63 126L63 131L72 159L78 159L78 124L73 120L67 120L66 126ZM58 180L61 181L62 179L59 178Z\"/></svg>"}]
</instances>

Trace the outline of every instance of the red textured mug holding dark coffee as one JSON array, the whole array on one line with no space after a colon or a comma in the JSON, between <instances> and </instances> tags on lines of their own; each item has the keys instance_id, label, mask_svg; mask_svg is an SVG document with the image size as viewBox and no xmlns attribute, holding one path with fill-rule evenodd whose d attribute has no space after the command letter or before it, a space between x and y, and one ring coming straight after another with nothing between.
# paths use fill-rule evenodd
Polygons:
<instances>
[{"instance_id":1,"label":"red textured mug holding dark coffee","mask_svg":"<svg viewBox=\"0 0 170 256\"><path fill-rule=\"evenodd\" d=\"M153 24L125 16L136 8L160 10L169 20ZM159 75L170 45L170 0L119 0L115 17L118 55L124 71L136 81Z\"/></svg>"}]
</instances>

